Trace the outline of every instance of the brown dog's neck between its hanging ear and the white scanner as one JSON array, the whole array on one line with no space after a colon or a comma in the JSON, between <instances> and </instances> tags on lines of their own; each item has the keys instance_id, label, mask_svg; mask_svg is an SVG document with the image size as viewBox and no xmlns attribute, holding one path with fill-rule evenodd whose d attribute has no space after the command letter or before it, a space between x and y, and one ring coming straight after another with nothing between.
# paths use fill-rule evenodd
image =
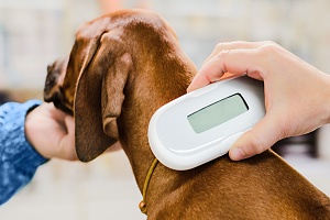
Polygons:
<instances>
[{"instance_id":1,"label":"brown dog's neck between its hanging ear and the white scanner","mask_svg":"<svg viewBox=\"0 0 330 220\"><path fill-rule=\"evenodd\" d=\"M161 69L158 73L140 73L128 81L131 84L129 85L130 91L125 94L118 127L120 142L141 190L146 173L155 158L147 141L150 119L160 107L186 94L197 72L194 64L186 57L184 62L179 61L165 65L170 67L168 69ZM173 68L174 65L177 65L177 68ZM143 80L143 78L150 80Z\"/></svg>"}]
</instances>

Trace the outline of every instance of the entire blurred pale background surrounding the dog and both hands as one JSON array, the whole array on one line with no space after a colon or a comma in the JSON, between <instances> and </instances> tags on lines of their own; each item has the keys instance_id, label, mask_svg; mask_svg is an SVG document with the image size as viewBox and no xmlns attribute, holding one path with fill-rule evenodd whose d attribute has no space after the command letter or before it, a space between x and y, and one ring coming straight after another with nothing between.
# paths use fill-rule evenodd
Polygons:
<instances>
[{"instance_id":1,"label":"entire blurred pale background surrounding the dog and both hands","mask_svg":"<svg viewBox=\"0 0 330 220\"><path fill-rule=\"evenodd\" d=\"M70 52L76 29L128 8L160 13L198 67L217 43L271 40L330 73L329 0L0 0L0 99L42 99L46 67ZM330 196L329 143L323 127L274 150ZM141 199L122 151L89 164L53 160L0 207L0 219L145 219Z\"/></svg>"}]
</instances>

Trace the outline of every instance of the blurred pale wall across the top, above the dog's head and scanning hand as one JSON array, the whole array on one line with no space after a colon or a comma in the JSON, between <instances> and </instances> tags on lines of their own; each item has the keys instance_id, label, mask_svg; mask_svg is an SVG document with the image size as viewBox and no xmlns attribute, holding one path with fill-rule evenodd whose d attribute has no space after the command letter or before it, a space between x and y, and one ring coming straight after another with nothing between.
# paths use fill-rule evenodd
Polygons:
<instances>
[{"instance_id":1,"label":"blurred pale wall across the top, above the dog's head and scanning hand","mask_svg":"<svg viewBox=\"0 0 330 220\"><path fill-rule=\"evenodd\" d=\"M0 0L0 88L42 88L47 64L107 2L161 13L198 67L219 42L272 40L330 73L328 0Z\"/></svg>"}]
</instances>

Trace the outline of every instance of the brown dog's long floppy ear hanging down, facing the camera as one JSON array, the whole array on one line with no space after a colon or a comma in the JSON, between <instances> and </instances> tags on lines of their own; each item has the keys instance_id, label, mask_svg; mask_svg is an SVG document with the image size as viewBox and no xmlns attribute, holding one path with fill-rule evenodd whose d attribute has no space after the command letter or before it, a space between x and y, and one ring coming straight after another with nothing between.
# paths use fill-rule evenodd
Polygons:
<instances>
[{"instance_id":1,"label":"brown dog's long floppy ear hanging down, facing the camera","mask_svg":"<svg viewBox=\"0 0 330 220\"><path fill-rule=\"evenodd\" d=\"M105 33L78 78L75 95L76 151L91 161L118 141L117 118L124 99L123 88L131 69L131 56L118 47L113 33Z\"/></svg>"}]
</instances>

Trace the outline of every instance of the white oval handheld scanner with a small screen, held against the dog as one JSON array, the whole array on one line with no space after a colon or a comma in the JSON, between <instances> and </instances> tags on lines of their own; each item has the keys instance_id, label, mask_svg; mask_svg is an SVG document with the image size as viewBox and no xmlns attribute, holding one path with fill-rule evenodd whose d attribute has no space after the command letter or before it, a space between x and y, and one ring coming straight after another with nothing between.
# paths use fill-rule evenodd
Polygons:
<instances>
[{"instance_id":1,"label":"white oval handheld scanner with a small screen, held against the dog","mask_svg":"<svg viewBox=\"0 0 330 220\"><path fill-rule=\"evenodd\" d=\"M148 125L148 142L165 166L185 170L228 153L265 114L263 82L232 77L161 107Z\"/></svg>"}]
</instances>

